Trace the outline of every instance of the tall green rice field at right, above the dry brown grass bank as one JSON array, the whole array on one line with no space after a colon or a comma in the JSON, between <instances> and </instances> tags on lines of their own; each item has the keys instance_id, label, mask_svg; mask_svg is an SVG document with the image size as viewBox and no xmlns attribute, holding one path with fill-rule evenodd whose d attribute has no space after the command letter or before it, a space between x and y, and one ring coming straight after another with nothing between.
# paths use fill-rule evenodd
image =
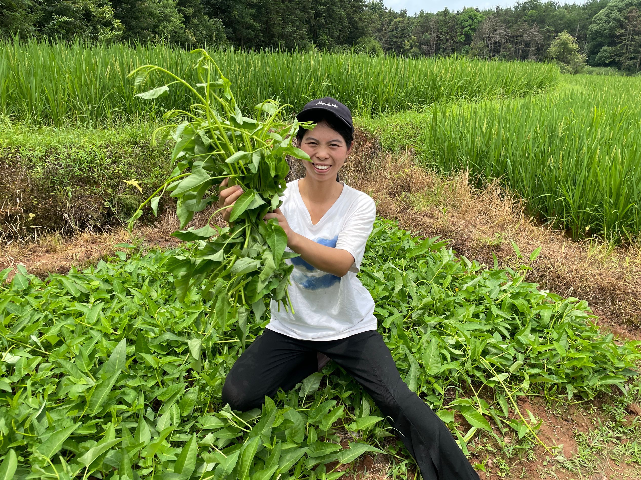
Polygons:
<instances>
[{"instance_id":1,"label":"tall green rice field at right, above the dry brown grass bank","mask_svg":"<svg viewBox=\"0 0 641 480\"><path fill-rule=\"evenodd\" d=\"M574 239L641 234L641 78L576 76L537 97L438 104L365 121L442 172L469 168Z\"/></svg>"}]
</instances>

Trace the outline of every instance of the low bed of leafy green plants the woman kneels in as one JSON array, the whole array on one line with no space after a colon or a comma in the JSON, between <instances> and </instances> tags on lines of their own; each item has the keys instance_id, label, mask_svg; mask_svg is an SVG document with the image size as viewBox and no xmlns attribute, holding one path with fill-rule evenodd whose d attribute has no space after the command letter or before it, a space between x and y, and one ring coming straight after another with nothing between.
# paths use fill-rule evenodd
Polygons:
<instances>
[{"instance_id":1,"label":"low bed of leafy green plants the woman kneels in","mask_svg":"<svg viewBox=\"0 0 641 480\"><path fill-rule=\"evenodd\" d=\"M242 352L237 321L221 324L199 289L180 302L168 268L198 248L131 247L44 281L23 269L0 287L0 478L337 479L331 461L399 453L369 396L332 363L262 411L220 403ZM490 420L519 438L536 433L517 395L590 399L625 391L635 374L639 342L617 346L585 302L538 291L527 271L482 269L442 242L374 225L360 278L379 330L463 451L480 431L495 435ZM265 323L247 324L248 342ZM465 397L472 388L490 401ZM455 429L454 411L469 431Z\"/></svg>"}]
</instances>

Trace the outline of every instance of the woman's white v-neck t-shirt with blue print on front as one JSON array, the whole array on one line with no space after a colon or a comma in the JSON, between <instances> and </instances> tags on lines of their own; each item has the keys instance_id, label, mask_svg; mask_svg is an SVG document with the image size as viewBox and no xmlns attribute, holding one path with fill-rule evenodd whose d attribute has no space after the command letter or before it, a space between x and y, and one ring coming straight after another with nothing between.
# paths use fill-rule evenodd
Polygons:
<instances>
[{"instance_id":1,"label":"woman's white v-neck t-shirt with blue print on front","mask_svg":"<svg viewBox=\"0 0 641 480\"><path fill-rule=\"evenodd\" d=\"M376 205L366 193L340 183L343 190L338 200L316 225L303 203L298 180L287 184L280 209L294 232L347 250L354 264L339 277L314 268L301 257L285 260L294 264L288 287L294 314L272 300L269 330L301 340L338 340L376 330L374 300L356 277L376 218Z\"/></svg>"}]
</instances>

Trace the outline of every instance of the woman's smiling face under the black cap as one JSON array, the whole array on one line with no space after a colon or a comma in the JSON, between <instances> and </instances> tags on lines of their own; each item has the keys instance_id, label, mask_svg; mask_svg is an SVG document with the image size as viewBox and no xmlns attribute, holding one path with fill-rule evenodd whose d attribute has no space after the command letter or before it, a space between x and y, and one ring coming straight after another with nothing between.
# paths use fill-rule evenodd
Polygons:
<instances>
[{"instance_id":1,"label":"woman's smiling face under the black cap","mask_svg":"<svg viewBox=\"0 0 641 480\"><path fill-rule=\"evenodd\" d=\"M312 160L303 160L306 176L319 182L335 182L338 170L351 151L351 146L347 148L340 133L331 129L326 122L319 122L313 130L306 130L300 148Z\"/></svg>"}]
</instances>

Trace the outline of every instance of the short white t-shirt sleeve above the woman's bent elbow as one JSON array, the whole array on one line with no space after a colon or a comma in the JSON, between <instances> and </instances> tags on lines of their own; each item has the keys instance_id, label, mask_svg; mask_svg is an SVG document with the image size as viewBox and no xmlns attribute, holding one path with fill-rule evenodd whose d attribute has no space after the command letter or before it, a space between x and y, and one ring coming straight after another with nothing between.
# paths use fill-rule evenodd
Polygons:
<instances>
[{"instance_id":1,"label":"short white t-shirt sleeve above the woman's bent elbow","mask_svg":"<svg viewBox=\"0 0 641 480\"><path fill-rule=\"evenodd\" d=\"M374 220L376 220L376 204L372 198L364 196L356 202L353 212L345 222L345 227L338 234L336 248L347 250L354 257L354 263L349 268L351 272L360 271L365 243L369 234L372 233Z\"/></svg>"}]
</instances>

